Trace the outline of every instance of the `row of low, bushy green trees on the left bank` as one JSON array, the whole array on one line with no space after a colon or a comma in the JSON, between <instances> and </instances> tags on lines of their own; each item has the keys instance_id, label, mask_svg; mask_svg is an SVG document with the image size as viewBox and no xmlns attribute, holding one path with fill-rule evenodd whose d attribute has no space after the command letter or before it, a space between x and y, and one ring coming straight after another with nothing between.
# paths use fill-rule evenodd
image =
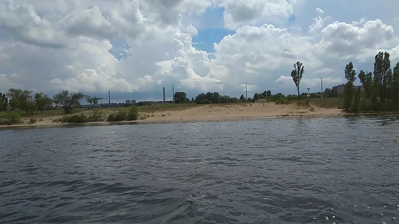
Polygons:
<instances>
[{"instance_id":1,"label":"row of low, bushy green trees on the left bank","mask_svg":"<svg viewBox=\"0 0 399 224\"><path fill-rule=\"evenodd\" d=\"M91 108L95 106L102 98L84 95L81 92L71 92L62 90L55 94L51 99L43 92L33 94L30 90L21 90L10 88L6 93L0 93L1 106L0 111L24 111L26 114L32 114L33 110L52 110L55 107L63 108L65 113L70 113L72 108L81 106L80 101L86 97L86 101Z\"/></svg>"}]
</instances>

